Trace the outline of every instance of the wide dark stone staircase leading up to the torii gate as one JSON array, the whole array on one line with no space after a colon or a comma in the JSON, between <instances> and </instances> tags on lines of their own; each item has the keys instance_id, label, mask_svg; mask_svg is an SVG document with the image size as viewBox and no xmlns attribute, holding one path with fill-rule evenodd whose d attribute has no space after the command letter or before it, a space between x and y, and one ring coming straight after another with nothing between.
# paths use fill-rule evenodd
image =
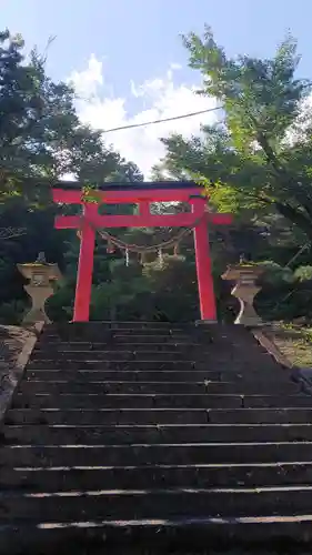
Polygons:
<instances>
[{"instance_id":1,"label":"wide dark stone staircase leading up to the torii gate","mask_svg":"<svg viewBox=\"0 0 312 555\"><path fill-rule=\"evenodd\" d=\"M303 553L311 422L238 325L46 326L1 427L0 554Z\"/></svg>"}]
</instances>

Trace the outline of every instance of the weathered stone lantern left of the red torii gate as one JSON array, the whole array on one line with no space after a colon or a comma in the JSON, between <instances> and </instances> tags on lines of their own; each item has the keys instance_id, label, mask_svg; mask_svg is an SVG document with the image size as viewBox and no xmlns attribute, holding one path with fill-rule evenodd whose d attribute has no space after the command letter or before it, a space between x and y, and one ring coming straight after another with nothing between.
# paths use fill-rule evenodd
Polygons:
<instances>
[{"instance_id":1,"label":"weathered stone lantern left of the red torii gate","mask_svg":"<svg viewBox=\"0 0 312 555\"><path fill-rule=\"evenodd\" d=\"M29 280L29 283L24 285L24 290L32 301L32 306L23 317L23 323L50 323L44 304L54 292L52 282L57 282L62 278L58 264L49 264L46 262L44 253L39 253L36 262L18 264L18 270Z\"/></svg>"}]
</instances>

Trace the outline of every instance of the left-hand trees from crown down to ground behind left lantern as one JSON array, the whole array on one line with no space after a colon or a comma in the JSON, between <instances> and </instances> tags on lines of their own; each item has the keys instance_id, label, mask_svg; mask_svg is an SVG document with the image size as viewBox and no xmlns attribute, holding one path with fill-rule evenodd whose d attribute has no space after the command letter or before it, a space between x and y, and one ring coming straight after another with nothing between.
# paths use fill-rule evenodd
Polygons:
<instances>
[{"instance_id":1,"label":"left-hand trees from crown down to ground behind left lantern","mask_svg":"<svg viewBox=\"0 0 312 555\"><path fill-rule=\"evenodd\" d=\"M51 301L53 316L69 319L72 310L79 242L72 231L53 229L51 183L66 173L94 184L143 179L133 162L103 143L100 132L81 123L73 89L50 79L44 57L23 52L20 36L0 33L0 319L3 311L7 323L19 321L27 302L16 264L36 260L39 251L68 273ZM11 238L11 228L27 232ZM99 256L104 265L105 253ZM104 279L101 273L99 265L95 283Z\"/></svg>"}]
</instances>

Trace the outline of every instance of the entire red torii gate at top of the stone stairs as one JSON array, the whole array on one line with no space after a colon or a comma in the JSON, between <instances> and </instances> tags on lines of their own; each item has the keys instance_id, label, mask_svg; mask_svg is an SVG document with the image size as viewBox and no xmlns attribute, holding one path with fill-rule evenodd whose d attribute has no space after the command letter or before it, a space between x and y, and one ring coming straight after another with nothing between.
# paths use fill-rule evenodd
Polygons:
<instances>
[{"instance_id":1,"label":"entire red torii gate at top of the stone stairs","mask_svg":"<svg viewBox=\"0 0 312 555\"><path fill-rule=\"evenodd\" d=\"M88 322L90 312L93 255L95 246L94 228L172 228L194 226L195 261L200 297L201 319L215 321L215 299L213 292L212 268L208 224L230 224L229 214L217 214L207 211L207 199L201 188L192 182L155 182L155 183L105 183L97 190L99 203L83 200L81 185L74 182L62 182L52 190L53 201L59 204L82 204L83 213L79 215L59 215L56 228L80 230L80 254L78 264L73 322ZM191 212L178 214L151 214L152 202L188 202ZM139 204L139 213L131 215L101 215L102 203Z\"/></svg>"}]
</instances>

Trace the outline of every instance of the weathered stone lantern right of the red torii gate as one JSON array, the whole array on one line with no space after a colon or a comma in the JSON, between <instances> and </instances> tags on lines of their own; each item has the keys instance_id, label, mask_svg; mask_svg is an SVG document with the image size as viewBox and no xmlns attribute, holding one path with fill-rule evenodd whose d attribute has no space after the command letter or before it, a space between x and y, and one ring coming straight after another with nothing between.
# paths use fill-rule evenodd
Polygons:
<instances>
[{"instance_id":1,"label":"weathered stone lantern right of the red torii gate","mask_svg":"<svg viewBox=\"0 0 312 555\"><path fill-rule=\"evenodd\" d=\"M235 324L260 325L261 317L256 314L253 302L261 287L256 284L264 269L254 264L240 263L230 265L222 275L222 280L235 282L231 293L240 301L241 310Z\"/></svg>"}]
</instances>

